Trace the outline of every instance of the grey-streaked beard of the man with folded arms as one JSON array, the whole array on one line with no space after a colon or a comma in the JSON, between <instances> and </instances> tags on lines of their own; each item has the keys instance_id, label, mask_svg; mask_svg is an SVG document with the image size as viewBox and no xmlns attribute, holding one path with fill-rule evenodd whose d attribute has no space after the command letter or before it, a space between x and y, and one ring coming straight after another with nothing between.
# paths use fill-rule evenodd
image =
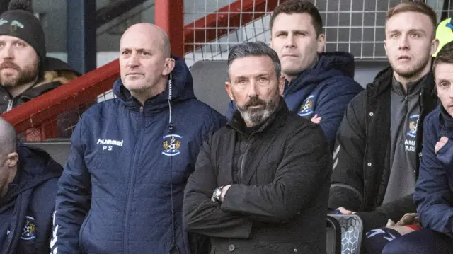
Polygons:
<instances>
[{"instance_id":1,"label":"grey-streaked beard of the man with folded arms","mask_svg":"<svg viewBox=\"0 0 453 254\"><path fill-rule=\"evenodd\" d=\"M280 103L280 93L278 89L275 89L274 96L268 102L261 100L258 96L254 96L242 106L237 105L236 99L234 99L234 103L241 113L243 120L248 122L248 124L253 127L262 124L265 120L268 120L270 115L277 110L278 104ZM261 107L251 108L253 106Z\"/></svg>"}]
</instances>

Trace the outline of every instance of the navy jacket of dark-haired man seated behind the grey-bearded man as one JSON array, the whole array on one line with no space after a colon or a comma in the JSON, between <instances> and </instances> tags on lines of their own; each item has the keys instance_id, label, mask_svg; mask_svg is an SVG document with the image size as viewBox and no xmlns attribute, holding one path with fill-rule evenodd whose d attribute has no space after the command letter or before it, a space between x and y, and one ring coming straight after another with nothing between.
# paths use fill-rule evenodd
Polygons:
<instances>
[{"instance_id":1,"label":"navy jacket of dark-haired man seated behind the grey-bearded man","mask_svg":"<svg viewBox=\"0 0 453 254\"><path fill-rule=\"evenodd\" d=\"M354 57L345 52L319 54L319 61L311 69L302 71L285 85L283 98L289 110L311 119L322 117L321 127L328 142L335 142L336 132L346 107L363 88L354 81ZM226 117L231 120L236 107L229 104Z\"/></svg>"}]
</instances>

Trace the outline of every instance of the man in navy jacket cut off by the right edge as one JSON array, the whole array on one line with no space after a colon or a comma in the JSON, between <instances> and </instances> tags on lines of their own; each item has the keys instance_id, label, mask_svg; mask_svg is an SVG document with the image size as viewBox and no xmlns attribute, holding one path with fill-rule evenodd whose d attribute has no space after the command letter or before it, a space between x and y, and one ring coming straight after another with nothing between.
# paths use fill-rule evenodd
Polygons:
<instances>
[{"instance_id":1,"label":"man in navy jacket cut off by the right edge","mask_svg":"<svg viewBox=\"0 0 453 254\"><path fill-rule=\"evenodd\" d=\"M414 200L423 229L387 244L387 253L453 253L453 42L433 63L441 105L425 118Z\"/></svg>"}]
</instances>

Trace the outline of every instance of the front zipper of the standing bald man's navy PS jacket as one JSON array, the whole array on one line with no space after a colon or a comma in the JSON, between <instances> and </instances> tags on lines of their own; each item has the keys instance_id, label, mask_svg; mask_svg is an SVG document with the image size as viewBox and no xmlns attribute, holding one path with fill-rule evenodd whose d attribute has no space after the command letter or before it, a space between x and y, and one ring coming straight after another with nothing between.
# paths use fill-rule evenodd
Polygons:
<instances>
[{"instance_id":1,"label":"front zipper of the standing bald man's navy PS jacket","mask_svg":"<svg viewBox=\"0 0 453 254\"><path fill-rule=\"evenodd\" d=\"M137 139L137 145L135 146L134 154L132 155L132 158L134 158L134 161L131 164L130 175L129 175L129 186L127 187L127 198L126 198L126 204L125 204L125 222L123 224L123 229L122 229L122 246L123 246L122 253L124 253L124 254L129 253L129 251L127 250L127 243L129 242L129 237L128 237L129 234L126 232L127 232L127 229L129 228L129 224L130 224L130 209L132 207L132 204L129 204L129 201L133 200L133 196L134 196L134 190L133 190L134 183L132 183L132 181L134 181L134 179L135 179L135 173L137 171L137 164L139 163L139 156L137 156L137 154L140 154L139 147L142 146L141 137L142 137L142 132L143 132L144 125L145 125L144 124L145 121L143 119L143 106L140 107L140 122L141 122L142 126L140 126L139 135L138 135L138 139Z\"/></svg>"}]
</instances>

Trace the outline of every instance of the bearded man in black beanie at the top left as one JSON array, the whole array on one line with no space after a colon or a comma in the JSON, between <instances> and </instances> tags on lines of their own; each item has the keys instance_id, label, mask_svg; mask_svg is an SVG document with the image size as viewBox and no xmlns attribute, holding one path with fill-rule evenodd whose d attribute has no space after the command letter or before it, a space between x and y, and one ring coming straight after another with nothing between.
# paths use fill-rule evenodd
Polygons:
<instances>
[{"instance_id":1,"label":"bearded man in black beanie at the top left","mask_svg":"<svg viewBox=\"0 0 453 254\"><path fill-rule=\"evenodd\" d=\"M27 4L12 0L0 15L0 114L79 76L46 57L44 30Z\"/></svg>"}]
</instances>

